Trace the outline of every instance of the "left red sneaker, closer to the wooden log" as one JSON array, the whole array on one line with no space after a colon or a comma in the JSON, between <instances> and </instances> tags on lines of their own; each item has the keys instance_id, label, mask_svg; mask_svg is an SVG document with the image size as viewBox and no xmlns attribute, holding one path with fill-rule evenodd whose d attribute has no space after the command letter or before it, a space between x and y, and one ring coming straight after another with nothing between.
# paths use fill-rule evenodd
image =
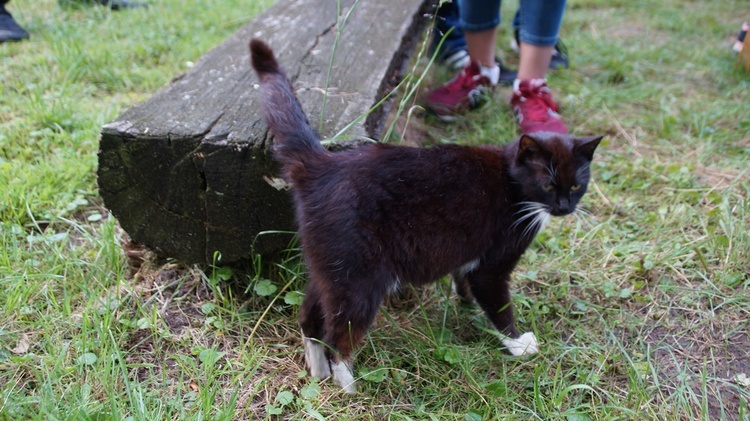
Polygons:
<instances>
[{"instance_id":1,"label":"left red sneaker, closer to the wooden log","mask_svg":"<svg viewBox=\"0 0 750 421\"><path fill-rule=\"evenodd\" d=\"M481 105L485 94L492 91L500 69L492 68L489 73L482 74L479 64L472 61L450 82L430 92L425 106L443 121L455 120L457 114Z\"/></svg>"}]
</instances>

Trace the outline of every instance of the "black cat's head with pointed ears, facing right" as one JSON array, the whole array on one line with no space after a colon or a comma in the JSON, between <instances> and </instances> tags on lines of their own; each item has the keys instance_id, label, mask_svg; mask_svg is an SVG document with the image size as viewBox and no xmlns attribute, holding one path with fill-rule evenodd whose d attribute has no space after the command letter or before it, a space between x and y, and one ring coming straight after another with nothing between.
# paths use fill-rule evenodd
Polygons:
<instances>
[{"instance_id":1,"label":"black cat's head with pointed ears, facing right","mask_svg":"<svg viewBox=\"0 0 750 421\"><path fill-rule=\"evenodd\" d=\"M553 216L574 212L588 187L589 167L601 140L544 132L522 135L513 148L510 172L524 203Z\"/></svg>"}]
</instances>

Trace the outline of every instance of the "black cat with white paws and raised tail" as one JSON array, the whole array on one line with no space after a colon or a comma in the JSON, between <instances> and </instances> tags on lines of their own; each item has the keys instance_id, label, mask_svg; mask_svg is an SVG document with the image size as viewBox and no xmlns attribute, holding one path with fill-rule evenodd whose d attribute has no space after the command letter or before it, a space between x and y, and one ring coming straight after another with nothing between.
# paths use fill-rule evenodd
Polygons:
<instances>
[{"instance_id":1,"label":"black cat with white paws and raised tail","mask_svg":"<svg viewBox=\"0 0 750 421\"><path fill-rule=\"evenodd\" d=\"M310 374L353 393L352 349L402 283L453 274L513 355L538 351L514 326L510 274L550 215L575 211L601 136L538 133L503 146L375 143L330 152L272 50L250 42L274 156L293 185L309 283L299 323Z\"/></svg>"}]
</instances>

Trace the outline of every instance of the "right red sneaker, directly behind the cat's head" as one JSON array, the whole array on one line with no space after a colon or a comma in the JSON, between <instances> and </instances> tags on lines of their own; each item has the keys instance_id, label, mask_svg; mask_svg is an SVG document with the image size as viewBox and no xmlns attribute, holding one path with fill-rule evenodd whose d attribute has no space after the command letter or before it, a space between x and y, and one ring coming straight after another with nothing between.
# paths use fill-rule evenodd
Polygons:
<instances>
[{"instance_id":1,"label":"right red sneaker, directly behind the cat's head","mask_svg":"<svg viewBox=\"0 0 750 421\"><path fill-rule=\"evenodd\" d=\"M544 79L516 81L510 99L521 133L568 133L568 127L557 114L557 104Z\"/></svg>"}]
</instances>

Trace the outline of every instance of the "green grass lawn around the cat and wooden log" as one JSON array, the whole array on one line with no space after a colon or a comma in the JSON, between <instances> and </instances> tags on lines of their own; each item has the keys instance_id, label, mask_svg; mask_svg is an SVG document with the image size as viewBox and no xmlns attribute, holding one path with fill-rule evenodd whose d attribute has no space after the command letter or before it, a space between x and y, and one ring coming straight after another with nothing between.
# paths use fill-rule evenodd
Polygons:
<instances>
[{"instance_id":1,"label":"green grass lawn around the cat and wooden log","mask_svg":"<svg viewBox=\"0 0 750 421\"><path fill-rule=\"evenodd\" d=\"M569 2L572 64L549 84L606 140L591 216L553 221L515 273L540 354L506 355L443 280L383 308L355 397L304 376L298 251L270 273L147 259L132 277L97 195L101 126L270 3L9 4L32 38L0 45L0 419L750 419L742 2ZM508 95L426 130L506 143Z\"/></svg>"}]
</instances>

